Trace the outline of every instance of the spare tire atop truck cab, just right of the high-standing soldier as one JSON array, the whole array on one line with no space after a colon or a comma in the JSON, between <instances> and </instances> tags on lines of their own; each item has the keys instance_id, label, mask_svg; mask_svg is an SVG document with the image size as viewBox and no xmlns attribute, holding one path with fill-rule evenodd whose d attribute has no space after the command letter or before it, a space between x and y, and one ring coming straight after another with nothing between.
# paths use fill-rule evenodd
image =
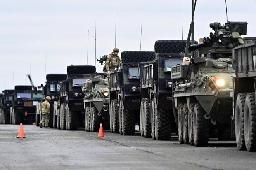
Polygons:
<instances>
[{"instance_id":1,"label":"spare tire atop truck cab, just right of the high-standing soldier","mask_svg":"<svg viewBox=\"0 0 256 170\"><path fill-rule=\"evenodd\" d=\"M121 53L122 63L146 62L154 59L154 51L123 51Z\"/></svg>"}]
</instances>

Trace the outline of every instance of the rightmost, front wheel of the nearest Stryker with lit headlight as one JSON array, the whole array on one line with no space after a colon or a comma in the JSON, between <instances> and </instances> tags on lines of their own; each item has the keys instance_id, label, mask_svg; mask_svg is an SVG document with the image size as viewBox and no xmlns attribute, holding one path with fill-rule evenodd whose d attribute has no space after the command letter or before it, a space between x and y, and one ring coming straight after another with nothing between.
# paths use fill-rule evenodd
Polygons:
<instances>
[{"instance_id":1,"label":"rightmost, front wheel of the nearest Stryker with lit headlight","mask_svg":"<svg viewBox=\"0 0 256 170\"><path fill-rule=\"evenodd\" d=\"M204 118L205 111L199 103L194 106L193 113L193 135L194 145L204 147L208 145L209 140L209 122Z\"/></svg>"}]
</instances>

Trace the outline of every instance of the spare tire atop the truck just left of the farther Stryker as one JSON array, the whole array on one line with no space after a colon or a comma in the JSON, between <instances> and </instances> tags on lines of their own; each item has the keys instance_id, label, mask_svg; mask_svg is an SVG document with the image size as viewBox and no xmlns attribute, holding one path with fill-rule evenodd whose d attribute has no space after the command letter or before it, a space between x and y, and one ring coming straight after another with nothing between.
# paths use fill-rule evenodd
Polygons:
<instances>
[{"instance_id":1,"label":"spare tire atop the truck just left of the farther Stryker","mask_svg":"<svg viewBox=\"0 0 256 170\"><path fill-rule=\"evenodd\" d=\"M71 74L92 74L95 73L96 68L94 65L69 65L67 67L68 75Z\"/></svg>"}]
</instances>

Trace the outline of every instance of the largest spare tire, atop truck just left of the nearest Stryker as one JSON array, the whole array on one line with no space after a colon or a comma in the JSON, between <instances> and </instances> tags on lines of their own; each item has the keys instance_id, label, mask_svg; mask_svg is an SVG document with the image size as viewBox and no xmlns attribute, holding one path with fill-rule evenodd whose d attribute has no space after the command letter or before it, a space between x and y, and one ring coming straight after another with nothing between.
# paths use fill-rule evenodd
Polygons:
<instances>
[{"instance_id":1,"label":"largest spare tire, atop truck just left of the nearest Stryker","mask_svg":"<svg viewBox=\"0 0 256 170\"><path fill-rule=\"evenodd\" d=\"M157 40L155 42L156 53L184 53L187 40ZM197 42L195 41L195 44ZM190 42L191 44L191 42Z\"/></svg>"}]
</instances>

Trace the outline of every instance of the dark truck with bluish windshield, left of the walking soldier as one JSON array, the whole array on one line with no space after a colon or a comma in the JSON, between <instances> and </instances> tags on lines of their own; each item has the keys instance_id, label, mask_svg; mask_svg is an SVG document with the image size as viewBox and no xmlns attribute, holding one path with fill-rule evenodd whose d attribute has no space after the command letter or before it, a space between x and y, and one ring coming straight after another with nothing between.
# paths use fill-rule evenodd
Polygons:
<instances>
[{"instance_id":1,"label":"dark truck with bluish windshield, left of the walking soldier","mask_svg":"<svg viewBox=\"0 0 256 170\"><path fill-rule=\"evenodd\" d=\"M10 108L11 124L32 124L35 122L36 105L41 102L42 91L34 91L32 86L17 85L14 87L12 107Z\"/></svg>"}]
</instances>

